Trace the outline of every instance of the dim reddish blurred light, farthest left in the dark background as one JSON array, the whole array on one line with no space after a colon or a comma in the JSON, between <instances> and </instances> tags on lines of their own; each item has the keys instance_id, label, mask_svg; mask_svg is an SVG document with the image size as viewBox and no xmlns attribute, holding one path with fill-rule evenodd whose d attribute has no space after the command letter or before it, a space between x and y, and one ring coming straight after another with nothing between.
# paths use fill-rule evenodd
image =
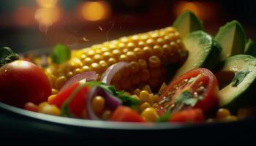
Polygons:
<instances>
[{"instance_id":1,"label":"dim reddish blurred light, farthest left in the dark background","mask_svg":"<svg viewBox=\"0 0 256 146\"><path fill-rule=\"evenodd\" d=\"M34 9L18 7L13 14L13 19L19 26L30 26L34 23Z\"/></svg>"}]
</instances>

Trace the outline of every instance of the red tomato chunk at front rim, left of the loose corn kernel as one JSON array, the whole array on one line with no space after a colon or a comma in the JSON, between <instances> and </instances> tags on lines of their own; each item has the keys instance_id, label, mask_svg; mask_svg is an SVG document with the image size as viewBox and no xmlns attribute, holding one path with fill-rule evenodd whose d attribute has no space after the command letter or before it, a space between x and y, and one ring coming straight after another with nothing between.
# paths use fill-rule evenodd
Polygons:
<instances>
[{"instance_id":1,"label":"red tomato chunk at front rim, left of the loose corn kernel","mask_svg":"<svg viewBox=\"0 0 256 146\"><path fill-rule=\"evenodd\" d=\"M110 120L119 122L145 122L138 112L135 112L131 108L125 106L118 106L113 112Z\"/></svg>"}]
</instances>

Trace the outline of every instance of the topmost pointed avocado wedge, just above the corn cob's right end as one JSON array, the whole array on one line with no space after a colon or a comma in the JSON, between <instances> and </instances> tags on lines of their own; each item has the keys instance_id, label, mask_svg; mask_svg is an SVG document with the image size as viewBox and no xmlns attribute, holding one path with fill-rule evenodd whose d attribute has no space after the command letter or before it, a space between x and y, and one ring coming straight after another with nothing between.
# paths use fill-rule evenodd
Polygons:
<instances>
[{"instance_id":1,"label":"topmost pointed avocado wedge, just above the corn cob's right end","mask_svg":"<svg viewBox=\"0 0 256 146\"><path fill-rule=\"evenodd\" d=\"M192 31L202 30L202 21L197 18L197 16L187 10L176 18L173 23L173 27L180 32L181 37L186 37Z\"/></svg>"}]
</instances>

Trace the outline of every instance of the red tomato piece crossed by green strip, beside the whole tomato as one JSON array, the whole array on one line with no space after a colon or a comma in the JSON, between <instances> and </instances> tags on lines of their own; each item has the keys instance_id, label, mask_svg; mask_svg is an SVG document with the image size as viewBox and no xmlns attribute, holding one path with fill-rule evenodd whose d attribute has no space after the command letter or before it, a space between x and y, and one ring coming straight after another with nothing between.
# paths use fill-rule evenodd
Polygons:
<instances>
[{"instance_id":1,"label":"red tomato piece crossed by green strip, beside the whole tomato","mask_svg":"<svg viewBox=\"0 0 256 146\"><path fill-rule=\"evenodd\" d=\"M49 101L49 104L55 104L57 107L61 108L64 101L71 96L73 91L78 88L78 85L80 85L80 82L75 83L74 85L70 86L69 88L66 88L64 91L61 91L56 95L56 97ZM86 105L86 94L89 91L88 86L84 86L81 88L78 93L76 93L75 97L70 101L68 107L70 112L72 112L75 117L82 117L83 116L83 110L85 109Z\"/></svg>"}]
</instances>

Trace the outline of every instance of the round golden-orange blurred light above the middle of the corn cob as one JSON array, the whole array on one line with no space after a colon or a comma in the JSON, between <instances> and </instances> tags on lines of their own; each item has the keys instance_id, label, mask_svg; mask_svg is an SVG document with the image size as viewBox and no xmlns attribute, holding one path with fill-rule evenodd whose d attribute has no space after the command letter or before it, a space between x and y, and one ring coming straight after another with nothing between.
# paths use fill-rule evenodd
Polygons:
<instances>
[{"instance_id":1,"label":"round golden-orange blurred light above the middle of the corn cob","mask_svg":"<svg viewBox=\"0 0 256 146\"><path fill-rule=\"evenodd\" d=\"M88 1L83 4L81 12L85 20L103 20L110 15L110 6L105 1Z\"/></svg>"}]
</instances>

